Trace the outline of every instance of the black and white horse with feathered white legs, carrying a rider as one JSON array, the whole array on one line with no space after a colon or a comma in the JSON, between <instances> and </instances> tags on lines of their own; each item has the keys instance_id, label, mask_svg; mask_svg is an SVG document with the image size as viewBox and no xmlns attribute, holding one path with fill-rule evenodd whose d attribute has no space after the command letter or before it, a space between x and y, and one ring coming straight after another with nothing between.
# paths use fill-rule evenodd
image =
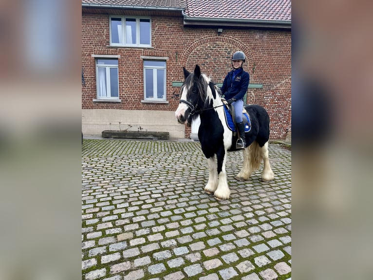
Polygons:
<instances>
[{"instance_id":1,"label":"black and white horse with feathered white legs, carrying a rider","mask_svg":"<svg viewBox=\"0 0 373 280\"><path fill-rule=\"evenodd\" d=\"M185 81L180 89L180 104L175 111L179 123L191 125L192 120L200 116L198 130L202 151L207 158L209 177L205 192L214 194L218 200L229 198L225 163L227 150L236 145L237 136L228 128L224 117L224 104L220 89L201 73L196 65L193 73L185 68ZM251 173L259 169L264 161L262 180L274 179L268 160L269 116L259 105L247 105L243 108L250 117L251 129L245 133L246 148L243 150L243 166L237 175L238 180L248 180ZM217 167L215 163L217 158Z\"/></svg>"}]
</instances>

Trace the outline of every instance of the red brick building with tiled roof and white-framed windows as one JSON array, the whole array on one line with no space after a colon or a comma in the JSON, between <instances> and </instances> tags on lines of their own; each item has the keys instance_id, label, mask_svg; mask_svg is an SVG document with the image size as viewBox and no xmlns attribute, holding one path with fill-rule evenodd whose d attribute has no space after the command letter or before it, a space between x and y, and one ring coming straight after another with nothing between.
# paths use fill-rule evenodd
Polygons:
<instances>
[{"instance_id":1,"label":"red brick building with tiled roof and white-framed windows","mask_svg":"<svg viewBox=\"0 0 373 280\"><path fill-rule=\"evenodd\" d=\"M290 0L82 0L82 132L195 135L174 116L195 64L216 83L235 51L250 74L246 103L265 107L271 139L291 131Z\"/></svg>"}]
</instances>

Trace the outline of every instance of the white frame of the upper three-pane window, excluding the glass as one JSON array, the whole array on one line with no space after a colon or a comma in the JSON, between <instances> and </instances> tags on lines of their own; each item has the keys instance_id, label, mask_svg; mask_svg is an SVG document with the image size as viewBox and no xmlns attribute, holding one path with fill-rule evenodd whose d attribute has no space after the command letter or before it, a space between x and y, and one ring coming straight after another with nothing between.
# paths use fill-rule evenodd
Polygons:
<instances>
[{"instance_id":1,"label":"white frame of the upper three-pane window, excluding the glass","mask_svg":"<svg viewBox=\"0 0 373 280\"><path fill-rule=\"evenodd\" d=\"M122 22L121 43L112 42L112 18L120 18ZM136 19L136 43L126 43L126 19ZM149 44L140 44L140 19L149 20ZM109 16L109 31L110 31L110 45L111 46L125 46L125 47L151 47L151 19L149 17L131 17L131 16Z\"/></svg>"}]
</instances>

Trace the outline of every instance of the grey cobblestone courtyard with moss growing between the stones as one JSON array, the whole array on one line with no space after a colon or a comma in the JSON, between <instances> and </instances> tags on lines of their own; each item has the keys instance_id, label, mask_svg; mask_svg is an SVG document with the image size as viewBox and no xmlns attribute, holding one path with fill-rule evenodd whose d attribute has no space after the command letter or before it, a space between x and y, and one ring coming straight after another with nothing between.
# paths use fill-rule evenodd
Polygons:
<instances>
[{"instance_id":1,"label":"grey cobblestone courtyard with moss growing between the stones","mask_svg":"<svg viewBox=\"0 0 373 280\"><path fill-rule=\"evenodd\" d=\"M199 142L85 139L82 280L291 279L291 151L269 157L274 181L238 181L228 153L217 201Z\"/></svg>"}]
</instances>

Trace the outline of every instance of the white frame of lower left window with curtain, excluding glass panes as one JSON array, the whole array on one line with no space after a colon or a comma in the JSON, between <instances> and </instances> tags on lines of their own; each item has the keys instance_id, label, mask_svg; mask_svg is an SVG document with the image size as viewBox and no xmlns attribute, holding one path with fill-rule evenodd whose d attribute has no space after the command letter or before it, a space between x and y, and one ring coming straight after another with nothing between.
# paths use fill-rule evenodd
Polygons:
<instances>
[{"instance_id":1,"label":"white frame of lower left window with curtain, excluding glass panes","mask_svg":"<svg viewBox=\"0 0 373 280\"><path fill-rule=\"evenodd\" d=\"M94 99L93 101L105 101L105 102L121 102L119 99L119 61L118 57L119 56L93 56L94 62L96 64L96 96L97 99ZM111 60L116 60L118 63L117 64L99 64L98 60L100 59L111 59ZM99 67L104 67L106 68L106 91L108 93L107 97L100 97L98 96L99 93L99 82L98 82L98 68ZM118 73L118 96L117 97L112 97L111 96L111 81L110 81L110 68L116 68L117 73Z\"/></svg>"}]
</instances>

